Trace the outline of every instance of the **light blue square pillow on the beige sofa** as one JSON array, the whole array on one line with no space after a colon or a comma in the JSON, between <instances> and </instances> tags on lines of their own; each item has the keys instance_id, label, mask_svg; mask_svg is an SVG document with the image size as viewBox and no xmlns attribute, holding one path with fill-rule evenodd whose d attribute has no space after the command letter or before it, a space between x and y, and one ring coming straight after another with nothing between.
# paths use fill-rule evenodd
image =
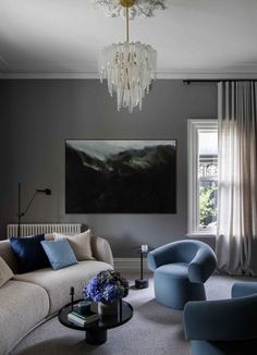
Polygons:
<instances>
[{"instance_id":1,"label":"light blue square pillow on the beige sofa","mask_svg":"<svg viewBox=\"0 0 257 355\"><path fill-rule=\"evenodd\" d=\"M42 241L41 246L47 254L52 269L58 270L77 264L75 254L68 240Z\"/></svg>"}]
</instances>

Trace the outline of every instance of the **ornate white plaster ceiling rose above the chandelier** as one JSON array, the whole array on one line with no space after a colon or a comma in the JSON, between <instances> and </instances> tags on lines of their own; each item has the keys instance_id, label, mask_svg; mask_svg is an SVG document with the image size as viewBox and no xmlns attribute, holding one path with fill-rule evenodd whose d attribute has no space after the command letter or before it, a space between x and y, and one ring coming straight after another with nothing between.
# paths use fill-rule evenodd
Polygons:
<instances>
[{"instance_id":1,"label":"ornate white plaster ceiling rose above the chandelier","mask_svg":"<svg viewBox=\"0 0 257 355\"><path fill-rule=\"evenodd\" d=\"M149 17L156 10L164 10L167 0L135 0L133 7L130 7L130 19L135 16ZM91 0L94 7L105 11L107 16L126 16L126 9L121 4L121 0ZM130 2L130 0L127 1Z\"/></svg>"}]
</instances>

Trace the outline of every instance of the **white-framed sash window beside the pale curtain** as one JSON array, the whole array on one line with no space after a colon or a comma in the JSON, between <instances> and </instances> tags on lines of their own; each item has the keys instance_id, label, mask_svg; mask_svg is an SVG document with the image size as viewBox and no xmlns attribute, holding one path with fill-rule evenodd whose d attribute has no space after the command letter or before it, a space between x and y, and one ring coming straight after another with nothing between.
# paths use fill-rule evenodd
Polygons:
<instances>
[{"instance_id":1,"label":"white-framed sash window beside the pale curtain","mask_svg":"<svg viewBox=\"0 0 257 355\"><path fill-rule=\"evenodd\" d=\"M218 205L218 121L188 120L188 234L213 234Z\"/></svg>"}]
</instances>

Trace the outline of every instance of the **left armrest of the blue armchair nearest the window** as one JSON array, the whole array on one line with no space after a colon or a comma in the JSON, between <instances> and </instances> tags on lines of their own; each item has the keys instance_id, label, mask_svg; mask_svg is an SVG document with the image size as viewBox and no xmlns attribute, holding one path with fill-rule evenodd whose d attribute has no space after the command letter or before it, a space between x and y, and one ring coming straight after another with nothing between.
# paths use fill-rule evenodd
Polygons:
<instances>
[{"instance_id":1,"label":"left armrest of the blue armchair nearest the window","mask_svg":"<svg viewBox=\"0 0 257 355\"><path fill-rule=\"evenodd\" d=\"M170 243L149 252L147 255L148 268L155 271L162 265L174 262L175 250L176 243Z\"/></svg>"}]
</instances>

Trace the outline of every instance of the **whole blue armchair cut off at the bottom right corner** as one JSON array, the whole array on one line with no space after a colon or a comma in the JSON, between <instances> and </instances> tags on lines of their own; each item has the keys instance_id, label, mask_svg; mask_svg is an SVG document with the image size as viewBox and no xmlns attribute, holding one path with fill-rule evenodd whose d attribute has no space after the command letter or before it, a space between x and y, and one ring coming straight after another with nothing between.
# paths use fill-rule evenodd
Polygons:
<instances>
[{"instance_id":1,"label":"whole blue armchair cut off at the bottom right corner","mask_svg":"<svg viewBox=\"0 0 257 355\"><path fill-rule=\"evenodd\" d=\"M188 302L184 331L192 355L257 354L257 282L235 283L230 299Z\"/></svg>"}]
</instances>

